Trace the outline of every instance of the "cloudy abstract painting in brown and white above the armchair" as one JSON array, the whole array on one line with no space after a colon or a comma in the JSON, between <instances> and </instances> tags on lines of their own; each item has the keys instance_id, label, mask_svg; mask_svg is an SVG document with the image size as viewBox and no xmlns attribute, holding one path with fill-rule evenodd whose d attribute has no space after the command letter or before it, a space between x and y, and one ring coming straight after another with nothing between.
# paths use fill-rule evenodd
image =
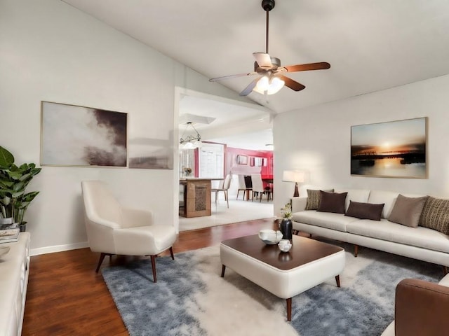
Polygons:
<instances>
[{"instance_id":1,"label":"cloudy abstract painting in brown and white above the armchair","mask_svg":"<svg viewBox=\"0 0 449 336\"><path fill-rule=\"evenodd\" d=\"M41 101L41 166L126 167L128 114Z\"/></svg>"}]
</instances>

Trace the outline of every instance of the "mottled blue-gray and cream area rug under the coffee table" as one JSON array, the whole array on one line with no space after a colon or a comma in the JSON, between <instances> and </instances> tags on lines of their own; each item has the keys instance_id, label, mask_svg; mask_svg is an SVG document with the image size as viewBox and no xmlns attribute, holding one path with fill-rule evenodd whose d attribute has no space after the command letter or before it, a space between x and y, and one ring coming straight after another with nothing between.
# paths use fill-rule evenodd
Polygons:
<instances>
[{"instance_id":1,"label":"mottled blue-gray and cream area rug under the coffee table","mask_svg":"<svg viewBox=\"0 0 449 336\"><path fill-rule=\"evenodd\" d=\"M218 246L102 270L131 336L143 335L380 335L394 319L396 284L405 278L438 282L442 268L349 244L341 288L329 279L293 297L291 323L286 300L229 269L220 277Z\"/></svg>"}]
</instances>

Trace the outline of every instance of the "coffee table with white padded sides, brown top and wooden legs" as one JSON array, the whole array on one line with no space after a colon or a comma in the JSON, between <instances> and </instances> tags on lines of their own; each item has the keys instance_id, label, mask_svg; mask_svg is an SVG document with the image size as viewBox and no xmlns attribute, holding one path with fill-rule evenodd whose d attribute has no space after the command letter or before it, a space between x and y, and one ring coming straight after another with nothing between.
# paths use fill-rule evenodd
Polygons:
<instances>
[{"instance_id":1,"label":"coffee table with white padded sides, brown top and wooden legs","mask_svg":"<svg viewBox=\"0 0 449 336\"><path fill-rule=\"evenodd\" d=\"M292 297L335 276L340 287L344 249L293 235L292 248L264 244L258 235L222 241L222 274L226 267L253 281L270 293L287 300L287 321L291 321Z\"/></svg>"}]
</instances>

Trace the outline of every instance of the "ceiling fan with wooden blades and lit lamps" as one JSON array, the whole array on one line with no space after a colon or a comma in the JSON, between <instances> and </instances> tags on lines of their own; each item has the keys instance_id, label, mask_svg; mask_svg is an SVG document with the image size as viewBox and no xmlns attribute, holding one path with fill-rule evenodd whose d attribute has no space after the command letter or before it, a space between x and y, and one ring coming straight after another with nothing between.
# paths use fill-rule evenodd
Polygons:
<instances>
[{"instance_id":1,"label":"ceiling fan with wooden blades and lit lamps","mask_svg":"<svg viewBox=\"0 0 449 336\"><path fill-rule=\"evenodd\" d=\"M286 87L290 87L290 89L294 91L300 91L303 90L305 86L291 78L288 78L287 76L284 76L283 73L330 68L330 64L327 62L281 66L281 59L272 57L268 54L269 11L274 8L274 5L274 0L262 0L262 8L264 8L267 13L266 50L265 52L253 52L253 56L255 58L254 71L249 73L238 73L231 76L211 78L209 80L210 82L258 74L260 76L255 78L255 80L249 83L249 85L245 87L242 92L240 92L241 96L247 96L252 91L259 92L261 94L274 94L281 90L284 85L286 85Z\"/></svg>"}]
</instances>

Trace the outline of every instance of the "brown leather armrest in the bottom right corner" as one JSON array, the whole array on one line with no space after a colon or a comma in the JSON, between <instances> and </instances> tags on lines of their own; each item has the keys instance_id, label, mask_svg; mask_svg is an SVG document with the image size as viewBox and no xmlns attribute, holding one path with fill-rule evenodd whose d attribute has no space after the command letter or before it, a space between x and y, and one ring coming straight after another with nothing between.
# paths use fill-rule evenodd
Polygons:
<instances>
[{"instance_id":1,"label":"brown leather armrest in the bottom right corner","mask_svg":"<svg viewBox=\"0 0 449 336\"><path fill-rule=\"evenodd\" d=\"M395 335L443 335L449 329L449 287L418 279L396 286Z\"/></svg>"}]
</instances>

